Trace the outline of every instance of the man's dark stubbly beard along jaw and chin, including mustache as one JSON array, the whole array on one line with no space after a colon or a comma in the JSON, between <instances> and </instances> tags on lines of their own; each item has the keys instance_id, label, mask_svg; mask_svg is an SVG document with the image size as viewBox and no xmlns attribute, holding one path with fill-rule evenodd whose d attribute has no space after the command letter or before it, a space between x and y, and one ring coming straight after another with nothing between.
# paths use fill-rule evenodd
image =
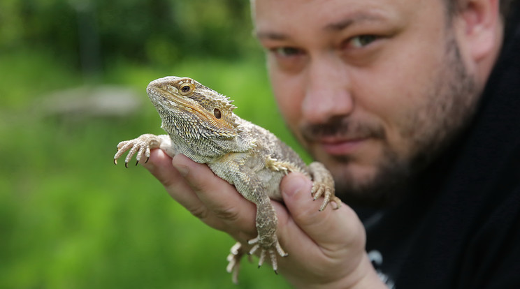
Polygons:
<instances>
[{"instance_id":1,"label":"man's dark stubbly beard along jaw and chin, including mustache","mask_svg":"<svg viewBox=\"0 0 520 289\"><path fill-rule=\"evenodd\" d=\"M351 135L382 142L382 157L375 175L370 179L356 179L349 172L347 167L356 161L355 156L328 156L336 163L329 168L335 179L336 194L347 204L380 206L399 200L410 188L414 177L439 156L470 122L479 91L474 78L465 68L453 35L446 41L443 63L431 87L424 90L427 101L413 110L407 116L407 124L400 127L401 138L410 142L411 151L407 156L400 156L389 145L380 124L344 117L301 128L301 135L307 142L326 137L348 138Z\"/></svg>"}]
</instances>

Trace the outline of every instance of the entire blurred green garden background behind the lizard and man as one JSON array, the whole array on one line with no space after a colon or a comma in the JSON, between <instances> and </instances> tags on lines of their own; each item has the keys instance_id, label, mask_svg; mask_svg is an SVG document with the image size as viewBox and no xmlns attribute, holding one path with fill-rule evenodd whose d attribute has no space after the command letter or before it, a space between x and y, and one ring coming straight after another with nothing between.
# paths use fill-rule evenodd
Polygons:
<instances>
[{"instance_id":1,"label":"entire blurred green garden background behind the lizard and man","mask_svg":"<svg viewBox=\"0 0 520 289\"><path fill-rule=\"evenodd\" d=\"M296 146L244 0L0 1L0 288L288 288L225 272L231 237L115 146L162 133L145 94L194 77ZM255 260L256 262L256 260Z\"/></svg>"}]
</instances>

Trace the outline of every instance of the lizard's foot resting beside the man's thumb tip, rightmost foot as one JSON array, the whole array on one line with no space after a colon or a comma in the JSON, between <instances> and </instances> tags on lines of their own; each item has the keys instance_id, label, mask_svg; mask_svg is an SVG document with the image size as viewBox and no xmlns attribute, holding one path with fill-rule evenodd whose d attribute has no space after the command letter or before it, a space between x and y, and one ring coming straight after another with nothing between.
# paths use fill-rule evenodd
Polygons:
<instances>
[{"instance_id":1,"label":"lizard's foot resting beside the man's thumb tip, rightmost foot","mask_svg":"<svg viewBox=\"0 0 520 289\"><path fill-rule=\"evenodd\" d=\"M341 207L341 200L334 194L334 179L331 172L328 172L325 166L318 162L311 163L309 169L313 181L311 191L312 198L317 200L322 195L324 197L322 207L319 207L319 211L323 211L329 202L335 202L336 205L334 209L339 209L339 207Z\"/></svg>"}]
</instances>

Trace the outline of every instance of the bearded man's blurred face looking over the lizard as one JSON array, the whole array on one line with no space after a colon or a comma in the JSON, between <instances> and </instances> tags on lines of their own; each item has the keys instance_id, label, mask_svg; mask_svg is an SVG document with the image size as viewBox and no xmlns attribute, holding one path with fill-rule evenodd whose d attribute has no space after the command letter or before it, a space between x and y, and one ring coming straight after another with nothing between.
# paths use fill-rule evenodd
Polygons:
<instances>
[{"instance_id":1,"label":"bearded man's blurred face looking over the lizard","mask_svg":"<svg viewBox=\"0 0 520 289\"><path fill-rule=\"evenodd\" d=\"M443 1L252 5L280 111L347 199L387 198L472 115L474 77Z\"/></svg>"}]
</instances>

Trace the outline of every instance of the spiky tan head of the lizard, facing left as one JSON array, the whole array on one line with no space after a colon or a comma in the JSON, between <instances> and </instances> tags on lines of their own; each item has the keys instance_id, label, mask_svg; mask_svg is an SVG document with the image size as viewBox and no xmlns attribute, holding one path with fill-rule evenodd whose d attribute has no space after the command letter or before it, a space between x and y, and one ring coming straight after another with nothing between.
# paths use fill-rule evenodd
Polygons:
<instances>
[{"instance_id":1,"label":"spiky tan head of the lizard, facing left","mask_svg":"<svg viewBox=\"0 0 520 289\"><path fill-rule=\"evenodd\" d=\"M235 138L236 115L229 98L188 77L154 80L146 89L161 115L163 128L187 139Z\"/></svg>"}]
</instances>

